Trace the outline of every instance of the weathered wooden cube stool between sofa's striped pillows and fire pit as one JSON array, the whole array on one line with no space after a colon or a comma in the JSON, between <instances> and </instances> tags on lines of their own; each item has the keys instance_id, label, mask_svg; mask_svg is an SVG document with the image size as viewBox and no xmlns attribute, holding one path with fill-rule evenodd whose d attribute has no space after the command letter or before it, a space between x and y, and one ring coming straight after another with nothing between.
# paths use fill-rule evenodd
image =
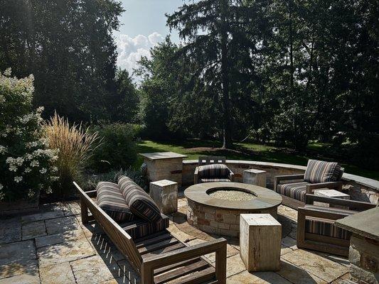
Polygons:
<instances>
[{"instance_id":1,"label":"weathered wooden cube stool between sofa's striped pillows and fire pit","mask_svg":"<svg viewBox=\"0 0 379 284\"><path fill-rule=\"evenodd\" d=\"M178 182L171 180L150 182L150 197L163 214L178 211Z\"/></svg>"}]
</instances>

